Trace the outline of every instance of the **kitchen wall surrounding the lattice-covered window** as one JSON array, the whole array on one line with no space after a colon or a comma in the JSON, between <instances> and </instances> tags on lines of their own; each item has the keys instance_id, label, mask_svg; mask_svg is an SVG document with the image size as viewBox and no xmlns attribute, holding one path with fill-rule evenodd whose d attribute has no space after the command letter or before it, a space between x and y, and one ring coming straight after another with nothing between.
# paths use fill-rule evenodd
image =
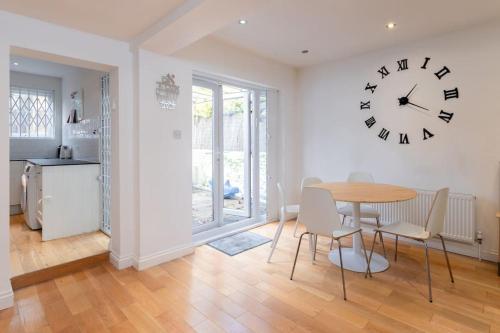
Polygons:
<instances>
[{"instance_id":1,"label":"kitchen wall surrounding the lattice-covered window","mask_svg":"<svg viewBox=\"0 0 500 333\"><path fill-rule=\"evenodd\" d=\"M61 144L61 79L21 72L10 72L10 85L54 91L54 138L11 138L10 158L54 158ZM7 109L8 111L9 109Z\"/></svg>"}]
</instances>

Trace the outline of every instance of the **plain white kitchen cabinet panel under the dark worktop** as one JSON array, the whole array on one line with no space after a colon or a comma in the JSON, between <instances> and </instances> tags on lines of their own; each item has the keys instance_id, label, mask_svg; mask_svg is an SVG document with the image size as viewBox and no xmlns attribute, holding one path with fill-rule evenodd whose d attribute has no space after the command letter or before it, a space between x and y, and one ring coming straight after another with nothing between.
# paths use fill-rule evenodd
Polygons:
<instances>
[{"instance_id":1,"label":"plain white kitchen cabinet panel under the dark worktop","mask_svg":"<svg viewBox=\"0 0 500 333\"><path fill-rule=\"evenodd\" d=\"M38 169L36 215L42 240L99 230L99 165L38 165Z\"/></svg>"}]
</instances>

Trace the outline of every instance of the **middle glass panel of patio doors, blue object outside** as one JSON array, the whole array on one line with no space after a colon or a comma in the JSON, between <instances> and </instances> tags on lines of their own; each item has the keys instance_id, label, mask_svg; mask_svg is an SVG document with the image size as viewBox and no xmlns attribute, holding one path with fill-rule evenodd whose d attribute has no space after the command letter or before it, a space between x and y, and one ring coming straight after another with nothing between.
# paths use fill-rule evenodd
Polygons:
<instances>
[{"instance_id":1,"label":"middle glass panel of patio doors, blue object outside","mask_svg":"<svg viewBox=\"0 0 500 333\"><path fill-rule=\"evenodd\" d=\"M224 224L250 217L250 91L222 87Z\"/></svg>"}]
</instances>

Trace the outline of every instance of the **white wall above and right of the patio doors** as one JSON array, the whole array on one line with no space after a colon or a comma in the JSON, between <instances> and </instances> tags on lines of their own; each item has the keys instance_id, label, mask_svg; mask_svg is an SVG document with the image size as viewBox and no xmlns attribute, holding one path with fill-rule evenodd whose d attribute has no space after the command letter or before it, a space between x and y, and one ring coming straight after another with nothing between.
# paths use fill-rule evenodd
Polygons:
<instances>
[{"instance_id":1,"label":"white wall above and right of the patio doors","mask_svg":"<svg viewBox=\"0 0 500 333\"><path fill-rule=\"evenodd\" d=\"M300 168L297 162L300 156L300 124L296 108L296 70L213 37L204 38L177 52L175 56L189 61L197 72L279 90L276 108L268 114L268 131L271 134L268 141L271 159L268 213L272 219L277 218L277 182L284 184L289 202L299 199L300 180L297 179Z\"/></svg>"}]
</instances>

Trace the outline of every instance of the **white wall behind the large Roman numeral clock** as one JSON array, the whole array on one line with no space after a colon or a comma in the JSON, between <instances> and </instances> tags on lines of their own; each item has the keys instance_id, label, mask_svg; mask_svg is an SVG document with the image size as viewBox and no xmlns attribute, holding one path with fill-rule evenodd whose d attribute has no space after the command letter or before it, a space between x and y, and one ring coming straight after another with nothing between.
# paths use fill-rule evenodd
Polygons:
<instances>
[{"instance_id":1,"label":"white wall behind the large Roman numeral clock","mask_svg":"<svg viewBox=\"0 0 500 333\"><path fill-rule=\"evenodd\" d=\"M483 255L493 258L500 182L499 35L500 24L489 24L302 70L303 175L344 180L350 171L366 170L379 182L421 189L449 186L452 192L474 194L478 229L485 237ZM419 68L413 74L395 71L396 60L408 58L415 68L424 57L432 58L430 69L446 65L453 72L440 81ZM381 81L377 70L387 64L393 73ZM364 91L368 81L379 84L373 95ZM415 83L415 101L455 112L450 124L398 109L396 97ZM443 102L443 89L455 86L460 98ZM365 126L369 116L360 111L360 101L367 98L379 124L393 129L390 142L377 137L378 124L371 130ZM394 107L387 107L391 103ZM423 126L436 134L428 142L417 139ZM410 133L409 146L396 142L398 130Z\"/></svg>"}]
</instances>

